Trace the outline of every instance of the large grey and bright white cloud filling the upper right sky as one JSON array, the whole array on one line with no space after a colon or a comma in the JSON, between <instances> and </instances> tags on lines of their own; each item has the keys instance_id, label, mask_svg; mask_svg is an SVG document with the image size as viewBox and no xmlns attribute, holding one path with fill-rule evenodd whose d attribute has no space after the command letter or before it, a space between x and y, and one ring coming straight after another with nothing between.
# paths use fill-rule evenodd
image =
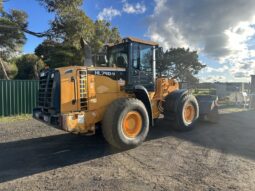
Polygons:
<instances>
[{"instance_id":1,"label":"large grey and bright white cloud filling the upper right sky","mask_svg":"<svg viewBox=\"0 0 255 191\"><path fill-rule=\"evenodd\" d=\"M249 47L255 36L254 0L154 1L147 33L151 40L164 48L198 49L231 66L233 77L240 76L238 70L246 70L246 76L255 73L255 50Z\"/></svg>"}]
</instances>

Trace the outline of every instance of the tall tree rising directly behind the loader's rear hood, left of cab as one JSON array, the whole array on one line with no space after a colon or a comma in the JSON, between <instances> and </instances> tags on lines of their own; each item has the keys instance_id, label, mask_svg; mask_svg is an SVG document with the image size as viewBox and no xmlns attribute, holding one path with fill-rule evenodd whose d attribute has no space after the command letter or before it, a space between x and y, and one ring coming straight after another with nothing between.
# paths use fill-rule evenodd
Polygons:
<instances>
[{"instance_id":1,"label":"tall tree rising directly behind the loader's rear hood, left of cab","mask_svg":"<svg viewBox=\"0 0 255 191\"><path fill-rule=\"evenodd\" d=\"M43 55L50 67L83 65L84 54L80 39L85 39L97 54L106 43L120 41L117 28L106 21L93 22L81 9L81 0L39 0L49 12L55 13L50 35L40 44L35 53Z\"/></svg>"}]
</instances>

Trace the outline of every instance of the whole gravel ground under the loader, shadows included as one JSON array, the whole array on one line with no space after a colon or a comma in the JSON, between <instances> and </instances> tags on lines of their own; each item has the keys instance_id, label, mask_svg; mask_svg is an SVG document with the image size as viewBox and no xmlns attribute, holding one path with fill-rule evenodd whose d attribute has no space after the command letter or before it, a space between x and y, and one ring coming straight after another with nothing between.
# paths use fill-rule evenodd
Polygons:
<instances>
[{"instance_id":1,"label":"whole gravel ground under the loader, shadows included","mask_svg":"<svg viewBox=\"0 0 255 191\"><path fill-rule=\"evenodd\" d=\"M255 111L233 111L185 133L158 120L122 152L101 134L0 123L0 190L255 190Z\"/></svg>"}]
</instances>

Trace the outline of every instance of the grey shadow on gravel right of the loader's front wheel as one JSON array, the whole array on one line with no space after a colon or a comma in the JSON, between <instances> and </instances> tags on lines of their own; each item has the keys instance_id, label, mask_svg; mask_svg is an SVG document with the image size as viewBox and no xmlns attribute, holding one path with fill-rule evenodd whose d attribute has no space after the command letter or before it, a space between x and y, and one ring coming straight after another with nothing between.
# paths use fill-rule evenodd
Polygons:
<instances>
[{"instance_id":1,"label":"grey shadow on gravel right of the loader's front wheel","mask_svg":"<svg viewBox=\"0 0 255 191\"><path fill-rule=\"evenodd\" d=\"M162 134L167 132L166 121L160 120L157 126ZM217 124L199 122L192 131L171 131L170 136L255 160L255 111L221 114Z\"/></svg>"}]
</instances>

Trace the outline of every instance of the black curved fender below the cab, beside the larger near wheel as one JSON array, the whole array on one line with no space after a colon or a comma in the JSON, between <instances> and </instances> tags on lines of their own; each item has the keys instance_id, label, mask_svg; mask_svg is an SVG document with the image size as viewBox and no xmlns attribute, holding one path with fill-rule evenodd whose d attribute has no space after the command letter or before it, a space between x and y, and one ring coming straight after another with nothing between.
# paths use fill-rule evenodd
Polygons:
<instances>
[{"instance_id":1,"label":"black curved fender below the cab, beside the larger near wheel","mask_svg":"<svg viewBox=\"0 0 255 191\"><path fill-rule=\"evenodd\" d=\"M152 118L152 108L151 108L151 102L149 98L149 93L147 89L142 85L136 85L134 87L134 93L137 99L141 100L146 107L146 110L149 115L150 119L150 125L154 126L153 118Z\"/></svg>"}]
</instances>

